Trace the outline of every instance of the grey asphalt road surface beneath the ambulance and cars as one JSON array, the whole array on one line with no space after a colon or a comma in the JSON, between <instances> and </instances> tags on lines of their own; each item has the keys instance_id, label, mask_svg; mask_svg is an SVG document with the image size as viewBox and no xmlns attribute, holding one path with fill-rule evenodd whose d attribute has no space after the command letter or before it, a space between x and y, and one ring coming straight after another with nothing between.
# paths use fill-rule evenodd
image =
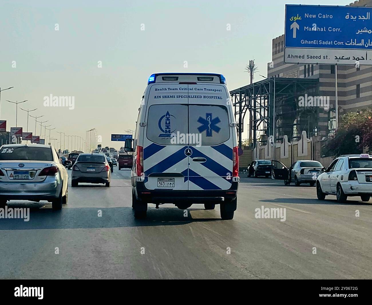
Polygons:
<instances>
[{"instance_id":1,"label":"grey asphalt road surface beneath the ambulance and cars","mask_svg":"<svg viewBox=\"0 0 372 305\"><path fill-rule=\"evenodd\" d=\"M11 202L32 210L28 222L0 219L0 278L372 278L372 200L318 201L315 187L241 180L233 220L221 220L218 205L193 205L184 217L170 204L135 220L129 170L117 167L110 188L70 184L61 211ZM286 208L286 220L255 218L261 206Z\"/></svg>"}]
</instances>

